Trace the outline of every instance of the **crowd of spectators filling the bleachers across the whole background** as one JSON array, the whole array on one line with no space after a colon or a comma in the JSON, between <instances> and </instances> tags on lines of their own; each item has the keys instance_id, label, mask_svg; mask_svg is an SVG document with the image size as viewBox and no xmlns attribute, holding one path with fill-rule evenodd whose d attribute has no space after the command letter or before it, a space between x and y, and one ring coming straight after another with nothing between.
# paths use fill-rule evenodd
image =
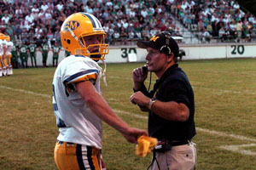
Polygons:
<instances>
[{"instance_id":1,"label":"crowd of spectators filling the bleachers across the whole background","mask_svg":"<svg viewBox=\"0 0 256 170\"><path fill-rule=\"evenodd\" d=\"M110 44L127 44L166 30L182 36L176 20L195 31L202 42L212 37L222 42L255 41L255 17L231 0L5 0L0 8L1 32L13 42L55 39L61 45L61 25L75 12L94 14L108 32Z\"/></svg>"}]
</instances>

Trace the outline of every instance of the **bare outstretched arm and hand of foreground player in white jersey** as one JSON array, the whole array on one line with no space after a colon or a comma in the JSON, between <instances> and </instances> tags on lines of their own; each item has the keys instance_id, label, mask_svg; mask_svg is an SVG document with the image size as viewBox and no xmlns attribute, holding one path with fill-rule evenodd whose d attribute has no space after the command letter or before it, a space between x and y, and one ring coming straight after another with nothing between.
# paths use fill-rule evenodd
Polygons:
<instances>
[{"instance_id":1,"label":"bare outstretched arm and hand of foreground player in white jersey","mask_svg":"<svg viewBox=\"0 0 256 170\"><path fill-rule=\"evenodd\" d=\"M137 143L139 136L148 135L146 131L129 127L123 122L119 116L112 111L102 95L96 91L92 82L85 81L76 83L76 88L86 105L90 107L90 110L93 111L96 116L99 116L102 121L107 122L108 125L118 130L119 133L122 133L127 141Z\"/></svg>"}]
</instances>

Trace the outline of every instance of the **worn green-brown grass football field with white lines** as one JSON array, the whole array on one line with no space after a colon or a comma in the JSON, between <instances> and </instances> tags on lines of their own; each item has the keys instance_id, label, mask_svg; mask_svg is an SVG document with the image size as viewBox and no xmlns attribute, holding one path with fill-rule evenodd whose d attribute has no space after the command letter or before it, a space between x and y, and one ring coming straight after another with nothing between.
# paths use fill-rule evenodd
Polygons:
<instances>
[{"instance_id":1,"label":"worn green-brown grass football field with white lines","mask_svg":"<svg viewBox=\"0 0 256 170\"><path fill-rule=\"evenodd\" d=\"M129 100L131 71L140 65L108 64L108 87L102 83L102 95L125 122L146 129L147 114ZM183 61L180 66L195 92L197 169L256 169L256 59ZM0 78L1 170L56 169L54 71L20 69ZM106 123L103 128L102 151L108 170L147 169L151 155L136 156L135 144L128 144Z\"/></svg>"}]
</instances>

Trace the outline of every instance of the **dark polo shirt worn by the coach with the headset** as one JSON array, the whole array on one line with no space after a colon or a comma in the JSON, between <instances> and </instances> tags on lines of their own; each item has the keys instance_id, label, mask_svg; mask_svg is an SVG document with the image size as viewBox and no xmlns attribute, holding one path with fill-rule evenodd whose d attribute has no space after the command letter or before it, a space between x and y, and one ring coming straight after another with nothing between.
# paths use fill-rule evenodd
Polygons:
<instances>
[{"instance_id":1,"label":"dark polo shirt worn by the coach with the headset","mask_svg":"<svg viewBox=\"0 0 256 170\"><path fill-rule=\"evenodd\" d=\"M178 67L172 65L154 84L154 89L147 92L145 86L138 91L150 98L160 101L176 101L183 103L189 108L189 119L186 122L168 121L153 111L148 111L148 133L157 139L187 140L195 136L195 103L194 92L186 74Z\"/></svg>"}]
</instances>

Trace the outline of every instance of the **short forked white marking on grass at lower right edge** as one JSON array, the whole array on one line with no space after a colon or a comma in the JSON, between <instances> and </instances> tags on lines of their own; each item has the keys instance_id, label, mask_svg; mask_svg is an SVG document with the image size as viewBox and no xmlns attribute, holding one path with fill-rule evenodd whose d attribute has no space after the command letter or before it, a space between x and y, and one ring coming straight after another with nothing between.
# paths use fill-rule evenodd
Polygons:
<instances>
[{"instance_id":1,"label":"short forked white marking on grass at lower right edge","mask_svg":"<svg viewBox=\"0 0 256 170\"><path fill-rule=\"evenodd\" d=\"M243 155L256 156L256 152L242 149L245 147L252 147L252 146L256 146L256 144L223 145L223 146L219 146L218 148L223 150L235 151Z\"/></svg>"}]
</instances>

